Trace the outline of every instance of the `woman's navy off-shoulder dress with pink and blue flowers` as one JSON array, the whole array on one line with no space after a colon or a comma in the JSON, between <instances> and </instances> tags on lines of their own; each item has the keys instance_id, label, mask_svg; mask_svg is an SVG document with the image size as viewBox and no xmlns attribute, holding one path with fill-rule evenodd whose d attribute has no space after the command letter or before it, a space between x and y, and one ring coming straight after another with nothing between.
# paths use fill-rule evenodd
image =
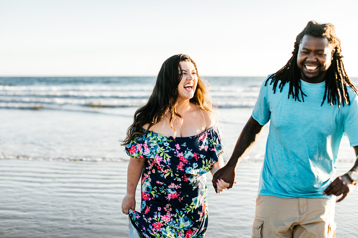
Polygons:
<instances>
[{"instance_id":1,"label":"woman's navy off-shoulder dress with pink and blue flowers","mask_svg":"<svg viewBox=\"0 0 358 238\"><path fill-rule=\"evenodd\" d=\"M149 131L127 144L126 152L146 158L141 212L129 209L130 221L140 236L204 237L208 226L205 173L224 153L217 126L190 137Z\"/></svg>"}]
</instances>

